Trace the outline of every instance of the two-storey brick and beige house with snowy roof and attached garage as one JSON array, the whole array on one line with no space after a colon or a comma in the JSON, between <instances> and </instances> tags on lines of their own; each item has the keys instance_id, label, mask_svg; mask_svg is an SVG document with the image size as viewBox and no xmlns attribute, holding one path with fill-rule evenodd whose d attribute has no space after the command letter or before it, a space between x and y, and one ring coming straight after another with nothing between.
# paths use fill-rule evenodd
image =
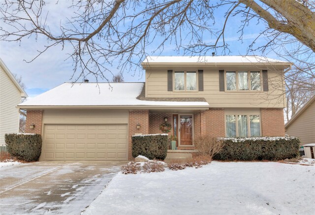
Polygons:
<instances>
[{"instance_id":1,"label":"two-storey brick and beige house with snowy roof and attached garage","mask_svg":"<svg viewBox=\"0 0 315 215\"><path fill-rule=\"evenodd\" d=\"M193 138L284 136L284 70L257 56L147 57L145 83L64 83L19 105L41 160L132 159L131 136L172 124L177 150ZM33 125L33 128L30 128Z\"/></svg>"}]
</instances>

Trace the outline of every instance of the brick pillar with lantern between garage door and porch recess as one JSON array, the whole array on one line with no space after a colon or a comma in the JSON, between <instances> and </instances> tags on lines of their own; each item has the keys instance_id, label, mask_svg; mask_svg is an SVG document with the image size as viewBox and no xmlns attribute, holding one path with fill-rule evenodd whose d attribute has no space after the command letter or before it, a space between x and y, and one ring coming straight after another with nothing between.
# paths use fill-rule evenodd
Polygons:
<instances>
[{"instance_id":1,"label":"brick pillar with lantern between garage door and porch recess","mask_svg":"<svg viewBox=\"0 0 315 215\"><path fill-rule=\"evenodd\" d=\"M137 124L140 124L140 129L137 129ZM128 160L132 160L132 141L131 136L134 134L149 134L149 111L134 110L129 111L128 120Z\"/></svg>"}]
</instances>

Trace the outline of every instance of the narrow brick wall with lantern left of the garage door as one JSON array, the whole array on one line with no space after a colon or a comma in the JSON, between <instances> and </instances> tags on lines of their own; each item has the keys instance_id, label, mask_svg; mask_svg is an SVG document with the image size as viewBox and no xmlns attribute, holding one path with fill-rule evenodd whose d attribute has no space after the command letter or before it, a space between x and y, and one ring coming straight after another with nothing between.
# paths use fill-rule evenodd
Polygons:
<instances>
[{"instance_id":1,"label":"narrow brick wall with lantern left of the garage door","mask_svg":"<svg viewBox=\"0 0 315 215\"><path fill-rule=\"evenodd\" d=\"M42 131L42 110L27 110L26 112L26 125L25 133L41 134ZM34 124L34 128L30 128L30 125Z\"/></svg>"}]
</instances>

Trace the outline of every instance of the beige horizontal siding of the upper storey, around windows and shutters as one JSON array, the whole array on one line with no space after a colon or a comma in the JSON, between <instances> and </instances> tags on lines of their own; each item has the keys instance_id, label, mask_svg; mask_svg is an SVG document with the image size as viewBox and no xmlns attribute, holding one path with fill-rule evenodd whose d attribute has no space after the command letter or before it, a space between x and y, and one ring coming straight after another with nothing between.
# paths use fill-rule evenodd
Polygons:
<instances>
[{"instance_id":1,"label":"beige horizontal siding of the upper storey, around windows and shutters","mask_svg":"<svg viewBox=\"0 0 315 215\"><path fill-rule=\"evenodd\" d=\"M204 91L202 92L168 92L167 70L197 71L203 69ZM268 69L268 92L220 92L219 70L262 70ZM211 107L218 108L284 108L283 70L280 68L257 67L152 67L146 70L147 97L204 97Z\"/></svg>"}]
</instances>

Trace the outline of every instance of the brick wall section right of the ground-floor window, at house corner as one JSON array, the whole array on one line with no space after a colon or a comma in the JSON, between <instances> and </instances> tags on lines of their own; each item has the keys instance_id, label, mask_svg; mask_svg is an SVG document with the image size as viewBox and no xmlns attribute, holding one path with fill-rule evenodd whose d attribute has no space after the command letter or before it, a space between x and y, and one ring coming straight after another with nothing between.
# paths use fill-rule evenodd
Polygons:
<instances>
[{"instance_id":1,"label":"brick wall section right of the ground-floor window, at house corner","mask_svg":"<svg viewBox=\"0 0 315 215\"><path fill-rule=\"evenodd\" d=\"M284 110L261 108L262 136L284 136Z\"/></svg>"}]
</instances>

